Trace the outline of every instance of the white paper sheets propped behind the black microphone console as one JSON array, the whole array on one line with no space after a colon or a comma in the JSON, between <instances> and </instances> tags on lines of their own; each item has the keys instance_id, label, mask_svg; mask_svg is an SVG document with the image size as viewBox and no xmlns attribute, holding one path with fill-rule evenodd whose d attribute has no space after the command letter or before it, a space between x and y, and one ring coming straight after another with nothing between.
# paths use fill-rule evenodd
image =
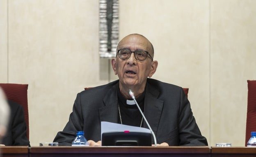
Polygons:
<instances>
[{"instance_id":1,"label":"white paper sheets propped behind the black microphone console","mask_svg":"<svg viewBox=\"0 0 256 157\"><path fill-rule=\"evenodd\" d=\"M111 122L101 122L101 137L102 137L102 133L123 132L123 131L151 133L151 131L147 128L140 128L136 126L129 126L129 125L117 124L117 123L111 123Z\"/></svg>"}]
</instances>

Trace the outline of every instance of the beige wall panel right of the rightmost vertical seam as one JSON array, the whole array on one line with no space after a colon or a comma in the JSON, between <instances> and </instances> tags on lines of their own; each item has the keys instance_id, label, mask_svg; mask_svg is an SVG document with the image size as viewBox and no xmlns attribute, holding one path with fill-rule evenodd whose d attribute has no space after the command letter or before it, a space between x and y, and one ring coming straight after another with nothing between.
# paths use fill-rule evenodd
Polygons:
<instances>
[{"instance_id":1,"label":"beige wall panel right of the rightmost vertical seam","mask_svg":"<svg viewBox=\"0 0 256 157\"><path fill-rule=\"evenodd\" d=\"M212 144L244 146L247 80L256 79L256 1L211 1Z\"/></svg>"}]
</instances>

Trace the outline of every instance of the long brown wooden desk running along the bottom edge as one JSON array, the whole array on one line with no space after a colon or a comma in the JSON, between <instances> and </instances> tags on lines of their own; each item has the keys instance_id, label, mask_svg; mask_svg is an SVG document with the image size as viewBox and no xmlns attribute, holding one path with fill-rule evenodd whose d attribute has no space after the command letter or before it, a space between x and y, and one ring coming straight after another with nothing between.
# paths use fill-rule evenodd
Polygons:
<instances>
[{"instance_id":1,"label":"long brown wooden desk running along the bottom edge","mask_svg":"<svg viewBox=\"0 0 256 157\"><path fill-rule=\"evenodd\" d=\"M256 147L2 146L2 157L256 157Z\"/></svg>"}]
</instances>

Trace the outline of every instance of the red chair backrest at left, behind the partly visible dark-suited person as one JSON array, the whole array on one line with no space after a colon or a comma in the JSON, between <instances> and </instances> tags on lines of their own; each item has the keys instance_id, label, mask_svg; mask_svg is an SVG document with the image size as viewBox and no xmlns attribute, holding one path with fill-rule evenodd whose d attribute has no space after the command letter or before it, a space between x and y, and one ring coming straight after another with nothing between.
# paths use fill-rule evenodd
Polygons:
<instances>
[{"instance_id":1,"label":"red chair backrest at left, behind the partly visible dark-suited person","mask_svg":"<svg viewBox=\"0 0 256 157\"><path fill-rule=\"evenodd\" d=\"M28 84L2 84L0 87L5 92L8 100L21 104L24 109L25 121L27 124L27 139L29 139L29 119L27 105L27 87Z\"/></svg>"}]
</instances>

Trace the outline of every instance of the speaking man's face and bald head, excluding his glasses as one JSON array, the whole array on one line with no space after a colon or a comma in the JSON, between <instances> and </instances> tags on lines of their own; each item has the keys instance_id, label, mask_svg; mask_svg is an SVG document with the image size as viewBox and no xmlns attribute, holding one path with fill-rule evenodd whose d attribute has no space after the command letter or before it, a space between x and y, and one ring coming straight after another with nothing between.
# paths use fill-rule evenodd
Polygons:
<instances>
[{"instance_id":1,"label":"speaking man's face and bald head, excluding his glasses","mask_svg":"<svg viewBox=\"0 0 256 157\"><path fill-rule=\"evenodd\" d=\"M153 56L150 42L140 35L126 36L120 41L117 49L129 49L130 51L144 50ZM134 53L131 53L130 57L126 60L122 60L117 55L117 58L112 60L112 67L115 75L119 77L120 84L143 86L146 84L147 77L151 77L155 73L155 62L157 61L152 61L149 55L146 60L136 60Z\"/></svg>"}]
</instances>

